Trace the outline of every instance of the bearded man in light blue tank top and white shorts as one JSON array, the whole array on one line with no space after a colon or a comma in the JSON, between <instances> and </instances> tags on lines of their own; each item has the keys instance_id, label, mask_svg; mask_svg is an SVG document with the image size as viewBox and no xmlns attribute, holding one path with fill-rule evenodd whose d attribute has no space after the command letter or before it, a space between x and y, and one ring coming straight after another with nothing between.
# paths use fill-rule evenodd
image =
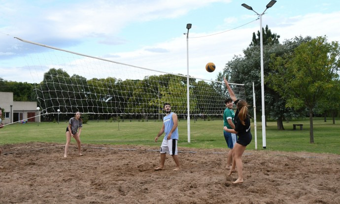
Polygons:
<instances>
[{"instance_id":1,"label":"bearded man in light blue tank top and white shorts","mask_svg":"<svg viewBox=\"0 0 340 204\"><path fill-rule=\"evenodd\" d=\"M158 137L160 137L163 133L165 133L165 136L163 138L163 142L161 145L161 149L160 149L161 165L157 167L155 170L164 169L164 163L165 163L167 153L172 156L172 159L176 164L176 168L174 170L180 170L181 167L179 165L179 159L177 155L177 141L178 141L177 115L176 113L171 112L170 103L164 104L164 110L166 111L167 114L163 118L163 126L160 132L155 137L155 142L157 142Z\"/></svg>"}]
</instances>

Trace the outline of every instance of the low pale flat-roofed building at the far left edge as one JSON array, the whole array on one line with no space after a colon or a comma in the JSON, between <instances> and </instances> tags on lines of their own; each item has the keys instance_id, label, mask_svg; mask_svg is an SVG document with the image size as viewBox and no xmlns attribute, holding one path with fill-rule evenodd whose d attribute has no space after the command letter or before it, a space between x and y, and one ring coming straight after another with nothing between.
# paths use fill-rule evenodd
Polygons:
<instances>
[{"instance_id":1,"label":"low pale flat-roofed building at the far left edge","mask_svg":"<svg viewBox=\"0 0 340 204\"><path fill-rule=\"evenodd\" d=\"M4 124L27 119L28 122L40 122L36 102L13 102L12 92L0 92L0 107L4 109Z\"/></svg>"}]
</instances>

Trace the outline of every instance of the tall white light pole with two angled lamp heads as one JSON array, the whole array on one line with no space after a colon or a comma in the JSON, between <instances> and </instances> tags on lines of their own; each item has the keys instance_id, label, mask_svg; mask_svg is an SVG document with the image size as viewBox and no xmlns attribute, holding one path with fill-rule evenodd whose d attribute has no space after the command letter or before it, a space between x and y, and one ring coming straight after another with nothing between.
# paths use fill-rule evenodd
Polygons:
<instances>
[{"instance_id":1,"label":"tall white light pole with two angled lamp heads","mask_svg":"<svg viewBox=\"0 0 340 204\"><path fill-rule=\"evenodd\" d=\"M265 11L272 7L276 3L276 0L271 0L267 6L266 9L259 14L258 12L254 11L251 6L248 6L245 3L242 3L241 5L245 7L246 9L254 11L259 17L260 17L260 49L261 49L261 97L262 97L262 146L264 149L266 149L266 117L265 117L265 83L264 83L264 68L263 68L263 39L262 39L262 15L265 14Z\"/></svg>"}]
</instances>

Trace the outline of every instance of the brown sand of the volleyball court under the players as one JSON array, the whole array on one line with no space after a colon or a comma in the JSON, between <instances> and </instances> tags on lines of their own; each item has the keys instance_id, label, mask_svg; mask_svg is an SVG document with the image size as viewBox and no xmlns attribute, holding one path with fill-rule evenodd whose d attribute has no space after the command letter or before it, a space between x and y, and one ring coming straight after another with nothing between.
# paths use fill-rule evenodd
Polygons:
<instances>
[{"instance_id":1,"label":"brown sand of the volleyball court under the players","mask_svg":"<svg viewBox=\"0 0 340 204\"><path fill-rule=\"evenodd\" d=\"M182 170L158 148L71 143L2 145L1 204L340 204L340 155L246 150L244 183L226 176L227 149L180 148Z\"/></svg>"}]
</instances>

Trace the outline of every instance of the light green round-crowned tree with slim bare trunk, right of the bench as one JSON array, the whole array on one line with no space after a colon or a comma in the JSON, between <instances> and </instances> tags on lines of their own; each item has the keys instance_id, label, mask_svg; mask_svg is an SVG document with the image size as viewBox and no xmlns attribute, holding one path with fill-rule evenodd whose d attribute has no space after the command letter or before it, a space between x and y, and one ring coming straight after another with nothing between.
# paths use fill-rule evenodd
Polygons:
<instances>
[{"instance_id":1,"label":"light green round-crowned tree with slim bare trunk, right of the bench","mask_svg":"<svg viewBox=\"0 0 340 204\"><path fill-rule=\"evenodd\" d=\"M314 143L313 108L325 100L333 79L339 77L339 57L339 43L320 36L301 43L294 53L272 59L271 87L286 100L286 106L308 109L310 143Z\"/></svg>"}]
</instances>

